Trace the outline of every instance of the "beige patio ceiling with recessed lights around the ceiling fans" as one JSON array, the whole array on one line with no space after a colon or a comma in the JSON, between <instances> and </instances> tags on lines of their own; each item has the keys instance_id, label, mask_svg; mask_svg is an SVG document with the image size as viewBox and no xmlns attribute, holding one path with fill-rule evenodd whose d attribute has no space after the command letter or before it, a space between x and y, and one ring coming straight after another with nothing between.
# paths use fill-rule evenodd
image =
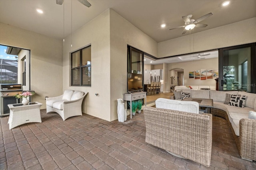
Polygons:
<instances>
[{"instance_id":1,"label":"beige patio ceiling with recessed lights around the ceiling fans","mask_svg":"<svg viewBox=\"0 0 256 170\"><path fill-rule=\"evenodd\" d=\"M208 24L207 27L195 28L195 32L256 17L256 0L230 1L229 6L222 7L224 0L88 0L92 4L88 8L77 0L64 0L64 5L57 5L55 0L0 0L0 22L63 39L71 33L71 4L72 31L112 8L161 42L183 36L183 28L169 29L184 25L182 16L189 14L195 20L210 12L214 14L200 22ZM38 14L36 8L44 14ZM162 23L166 23L166 28L160 27Z\"/></svg>"}]
</instances>

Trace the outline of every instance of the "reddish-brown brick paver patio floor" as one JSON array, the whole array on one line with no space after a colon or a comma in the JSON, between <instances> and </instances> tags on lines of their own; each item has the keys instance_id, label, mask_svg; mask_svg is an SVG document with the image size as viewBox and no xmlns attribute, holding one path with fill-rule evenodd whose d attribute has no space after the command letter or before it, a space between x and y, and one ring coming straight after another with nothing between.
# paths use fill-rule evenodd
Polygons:
<instances>
[{"instance_id":1,"label":"reddish-brown brick paver patio floor","mask_svg":"<svg viewBox=\"0 0 256 170\"><path fill-rule=\"evenodd\" d=\"M124 123L86 114L63 121L45 109L41 117L42 123L12 130L9 116L0 118L0 170L256 169L256 162L240 158L228 123L220 117L213 117L210 167L145 143L143 113Z\"/></svg>"}]
</instances>

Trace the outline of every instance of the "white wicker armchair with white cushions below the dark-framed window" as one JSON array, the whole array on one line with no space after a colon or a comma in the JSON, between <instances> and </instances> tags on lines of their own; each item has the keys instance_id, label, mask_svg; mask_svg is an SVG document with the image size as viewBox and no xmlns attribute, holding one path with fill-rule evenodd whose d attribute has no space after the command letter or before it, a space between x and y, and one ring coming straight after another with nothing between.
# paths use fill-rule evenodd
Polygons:
<instances>
[{"instance_id":1,"label":"white wicker armchair with white cushions below the dark-framed window","mask_svg":"<svg viewBox=\"0 0 256 170\"><path fill-rule=\"evenodd\" d=\"M63 121L68 117L82 116L82 101L88 92L65 90L61 96L46 98L46 113L56 112Z\"/></svg>"}]
</instances>

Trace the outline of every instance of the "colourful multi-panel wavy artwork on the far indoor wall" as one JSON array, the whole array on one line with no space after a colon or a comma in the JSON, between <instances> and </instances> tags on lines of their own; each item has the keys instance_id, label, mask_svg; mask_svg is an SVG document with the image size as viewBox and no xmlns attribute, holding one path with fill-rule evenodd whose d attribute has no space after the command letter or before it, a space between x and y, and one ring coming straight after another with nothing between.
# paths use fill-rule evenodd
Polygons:
<instances>
[{"instance_id":1,"label":"colourful multi-panel wavy artwork on the far indoor wall","mask_svg":"<svg viewBox=\"0 0 256 170\"><path fill-rule=\"evenodd\" d=\"M219 77L218 70L202 68L200 70L195 70L195 71L189 72L189 78L194 78L194 79L198 79L198 80L213 79L216 77Z\"/></svg>"}]
</instances>

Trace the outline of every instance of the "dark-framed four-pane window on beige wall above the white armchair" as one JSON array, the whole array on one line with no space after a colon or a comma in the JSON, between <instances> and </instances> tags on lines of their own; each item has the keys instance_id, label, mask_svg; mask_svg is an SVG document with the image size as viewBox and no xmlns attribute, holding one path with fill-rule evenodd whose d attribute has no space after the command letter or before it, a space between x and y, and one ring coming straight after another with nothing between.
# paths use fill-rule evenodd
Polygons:
<instances>
[{"instance_id":1,"label":"dark-framed four-pane window on beige wall above the white armchair","mask_svg":"<svg viewBox=\"0 0 256 170\"><path fill-rule=\"evenodd\" d=\"M91 46L71 53L71 86L91 86Z\"/></svg>"}]
</instances>

